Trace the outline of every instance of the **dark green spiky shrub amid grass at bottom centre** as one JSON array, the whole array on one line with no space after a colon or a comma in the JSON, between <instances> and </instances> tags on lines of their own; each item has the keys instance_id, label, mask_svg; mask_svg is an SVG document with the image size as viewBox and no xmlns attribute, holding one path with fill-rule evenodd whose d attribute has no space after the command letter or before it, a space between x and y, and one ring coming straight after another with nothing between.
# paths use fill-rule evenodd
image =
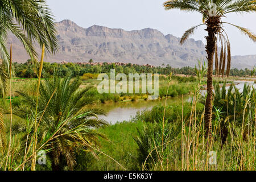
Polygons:
<instances>
[{"instance_id":1,"label":"dark green spiky shrub amid grass at bottom centre","mask_svg":"<svg viewBox=\"0 0 256 182\"><path fill-rule=\"evenodd\" d=\"M143 166L145 163L144 168L158 170L160 166L159 159L162 159L164 163L167 161L167 155L170 155L171 150L171 140L176 138L180 131L181 123L178 125L167 123L164 130L162 123L144 123L143 129L138 129L138 136L134 137L135 142L138 144L138 166ZM162 134L164 134L163 143L168 144L156 148L155 146L162 145Z\"/></svg>"}]
</instances>

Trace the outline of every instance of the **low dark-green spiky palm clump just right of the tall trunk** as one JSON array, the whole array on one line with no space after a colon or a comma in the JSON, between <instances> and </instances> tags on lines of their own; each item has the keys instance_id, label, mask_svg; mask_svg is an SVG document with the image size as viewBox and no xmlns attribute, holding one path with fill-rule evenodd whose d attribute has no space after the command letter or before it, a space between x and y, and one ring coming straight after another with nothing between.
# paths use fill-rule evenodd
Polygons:
<instances>
[{"instance_id":1,"label":"low dark-green spiky palm clump just right of the tall trunk","mask_svg":"<svg viewBox=\"0 0 256 182\"><path fill-rule=\"evenodd\" d=\"M243 117L247 118L247 126L254 128L253 125L255 115L254 109L246 109L245 105L249 108L255 108L256 92L253 86L245 84L242 90L236 88L234 84L226 88L226 81L220 86L219 82L214 84L214 100L213 105L216 109L221 111L220 126L221 126L221 142L224 144L228 137L228 125L232 121L233 125L241 126ZM204 104L204 97L200 100ZM248 102L247 102L248 101ZM246 104L247 102L247 104ZM251 117L252 116L252 117ZM234 122L234 119L236 119Z\"/></svg>"}]
</instances>

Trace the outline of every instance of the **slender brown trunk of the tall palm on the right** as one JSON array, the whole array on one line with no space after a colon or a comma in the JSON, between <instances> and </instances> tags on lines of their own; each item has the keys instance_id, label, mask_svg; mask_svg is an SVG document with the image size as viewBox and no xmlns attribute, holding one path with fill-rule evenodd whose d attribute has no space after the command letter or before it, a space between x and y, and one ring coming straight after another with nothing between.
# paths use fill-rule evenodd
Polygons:
<instances>
[{"instance_id":1,"label":"slender brown trunk of the tall palm on the right","mask_svg":"<svg viewBox=\"0 0 256 182\"><path fill-rule=\"evenodd\" d=\"M212 138L212 99L213 99L213 56L215 52L215 33L218 31L218 25L220 20L217 17L210 17L207 20L207 46L205 46L207 51L207 60L208 60L208 71L207 71L207 99L205 101L205 136L209 137L209 140Z\"/></svg>"}]
</instances>

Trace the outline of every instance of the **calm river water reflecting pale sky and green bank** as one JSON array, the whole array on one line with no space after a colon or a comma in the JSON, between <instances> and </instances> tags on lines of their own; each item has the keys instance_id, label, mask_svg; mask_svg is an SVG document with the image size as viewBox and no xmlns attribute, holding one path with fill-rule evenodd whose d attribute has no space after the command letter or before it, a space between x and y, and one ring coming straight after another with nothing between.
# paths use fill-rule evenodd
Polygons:
<instances>
[{"instance_id":1,"label":"calm river water reflecting pale sky and green bank","mask_svg":"<svg viewBox=\"0 0 256 182\"><path fill-rule=\"evenodd\" d=\"M238 89L242 91L243 85L250 84L256 88L256 84L250 81L234 81L234 84ZM227 86L226 88L229 88ZM202 94L204 94L206 90L202 90ZM187 101L189 96L184 96L184 101ZM177 101L181 101L181 97L168 98L167 104L171 104ZM162 100L148 100L148 101L136 101L136 102L117 102L117 103L109 103L109 104L100 104L100 108L106 111L106 116L100 116L99 118L105 119L110 124L114 124L116 122L129 121L132 117L134 117L137 112L141 112L143 110L152 109L153 106L162 104L164 105L165 99Z\"/></svg>"}]
</instances>

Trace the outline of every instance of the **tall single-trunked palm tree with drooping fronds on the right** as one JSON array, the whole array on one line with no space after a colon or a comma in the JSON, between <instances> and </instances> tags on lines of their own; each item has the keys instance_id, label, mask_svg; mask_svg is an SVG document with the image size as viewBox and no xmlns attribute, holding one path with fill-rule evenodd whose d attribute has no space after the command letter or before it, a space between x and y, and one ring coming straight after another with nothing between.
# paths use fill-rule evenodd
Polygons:
<instances>
[{"instance_id":1,"label":"tall single-trunked palm tree with drooping fronds on the right","mask_svg":"<svg viewBox=\"0 0 256 182\"><path fill-rule=\"evenodd\" d=\"M224 75L225 69L225 58L227 52L227 64L226 64L226 75L229 76L231 54L230 54L230 43L228 35L226 34L223 24L230 24L238 28L243 34L249 36L251 40L256 42L256 36L246 28L234 25L228 22L222 22L221 18L226 16L228 13L250 13L256 11L256 1L252 0L170 0L164 2L163 6L166 10L180 9L184 11L198 12L203 15L203 23L195 27L189 28L185 31L184 35L180 40L180 44L183 44L188 39L189 35L192 35L197 27L205 25L205 29L208 32L207 45L205 46L208 60L208 73L207 73L207 98L205 101L205 130L206 135L209 138L212 137L212 98L213 98L213 57L216 53L217 58L217 40L221 42L221 56L220 60L215 59L216 73ZM227 51L226 51L227 49ZM225 50L225 52L224 52Z\"/></svg>"}]
</instances>

